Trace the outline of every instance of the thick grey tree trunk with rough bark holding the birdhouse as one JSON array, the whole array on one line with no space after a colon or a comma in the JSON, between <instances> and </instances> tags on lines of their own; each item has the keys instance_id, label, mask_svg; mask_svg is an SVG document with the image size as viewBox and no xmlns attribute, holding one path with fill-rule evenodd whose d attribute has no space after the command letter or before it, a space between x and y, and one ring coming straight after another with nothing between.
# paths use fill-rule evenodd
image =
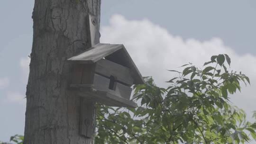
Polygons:
<instances>
[{"instance_id":1,"label":"thick grey tree trunk with rough bark holding the birdhouse","mask_svg":"<svg viewBox=\"0 0 256 144\"><path fill-rule=\"evenodd\" d=\"M86 16L101 0L35 0L24 144L93 144L79 135L80 100L67 58L89 47Z\"/></svg>"}]
</instances>

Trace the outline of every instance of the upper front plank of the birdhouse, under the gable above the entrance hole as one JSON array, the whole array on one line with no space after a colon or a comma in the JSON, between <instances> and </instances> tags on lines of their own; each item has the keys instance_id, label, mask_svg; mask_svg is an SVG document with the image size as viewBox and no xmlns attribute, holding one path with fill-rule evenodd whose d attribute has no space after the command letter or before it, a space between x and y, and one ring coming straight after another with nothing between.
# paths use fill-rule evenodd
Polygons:
<instances>
[{"instance_id":1,"label":"upper front plank of the birdhouse, under the gable above the entrance hole","mask_svg":"<svg viewBox=\"0 0 256 144\"><path fill-rule=\"evenodd\" d=\"M105 59L96 63L95 72L107 77L112 75L117 81L127 85L132 85L134 81L130 69Z\"/></svg>"}]
</instances>

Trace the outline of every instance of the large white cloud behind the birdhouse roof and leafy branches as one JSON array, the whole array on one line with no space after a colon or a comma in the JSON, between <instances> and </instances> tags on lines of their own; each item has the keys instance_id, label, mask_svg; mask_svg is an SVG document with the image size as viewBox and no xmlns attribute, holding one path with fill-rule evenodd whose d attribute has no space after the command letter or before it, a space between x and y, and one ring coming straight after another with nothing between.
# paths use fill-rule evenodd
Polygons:
<instances>
[{"instance_id":1,"label":"large white cloud behind the birdhouse roof and leafy branches","mask_svg":"<svg viewBox=\"0 0 256 144\"><path fill-rule=\"evenodd\" d=\"M183 39L171 35L147 19L127 20L114 15L109 26L101 28L101 42L124 44L143 76L153 76L160 86L174 77L167 69L176 69L185 63L202 66L211 55L229 54L231 68L242 71L251 78L251 87L242 90L231 100L250 113L256 110L254 89L256 89L256 57L251 54L240 55L224 45L220 38L199 41L194 38Z\"/></svg>"}]
</instances>

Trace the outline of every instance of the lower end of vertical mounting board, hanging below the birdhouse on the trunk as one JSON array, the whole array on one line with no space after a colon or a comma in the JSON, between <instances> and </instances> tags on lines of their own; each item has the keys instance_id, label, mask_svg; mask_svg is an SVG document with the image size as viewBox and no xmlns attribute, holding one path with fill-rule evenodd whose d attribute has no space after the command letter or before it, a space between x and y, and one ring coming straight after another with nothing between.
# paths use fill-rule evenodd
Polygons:
<instances>
[{"instance_id":1,"label":"lower end of vertical mounting board, hanging below the birdhouse on the trunk","mask_svg":"<svg viewBox=\"0 0 256 144\"><path fill-rule=\"evenodd\" d=\"M86 98L81 98L80 109L80 135L91 138L94 134L95 105L94 102Z\"/></svg>"}]
</instances>

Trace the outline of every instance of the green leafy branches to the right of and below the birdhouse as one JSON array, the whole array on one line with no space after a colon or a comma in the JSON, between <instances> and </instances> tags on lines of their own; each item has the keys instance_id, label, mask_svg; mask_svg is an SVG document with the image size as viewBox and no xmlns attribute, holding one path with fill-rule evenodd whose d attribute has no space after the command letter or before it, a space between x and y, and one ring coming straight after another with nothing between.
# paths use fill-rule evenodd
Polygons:
<instances>
[{"instance_id":1,"label":"green leafy branches to the right of and below the birdhouse","mask_svg":"<svg viewBox=\"0 0 256 144\"><path fill-rule=\"evenodd\" d=\"M226 62L226 63L225 63ZM250 84L241 72L229 72L227 54L211 57L201 70L185 64L178 77L157 87L151 77L136 85L137 108L98 105L96 144L230 144L256 140L256 123L230 105L229 94ZM254 115L256 117L256 114Z\"/></svg>"}]
</instances>

